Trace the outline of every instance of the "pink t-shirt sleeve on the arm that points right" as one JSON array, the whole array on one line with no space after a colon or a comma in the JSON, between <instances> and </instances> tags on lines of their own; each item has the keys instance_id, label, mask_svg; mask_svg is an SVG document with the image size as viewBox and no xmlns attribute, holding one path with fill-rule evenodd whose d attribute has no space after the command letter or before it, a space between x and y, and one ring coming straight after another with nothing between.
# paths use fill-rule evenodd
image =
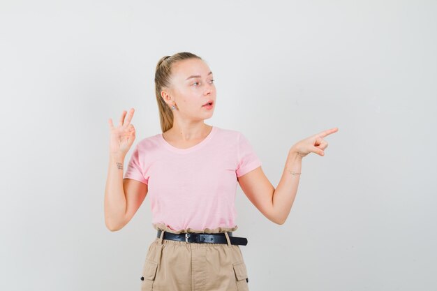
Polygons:
<instances>
[{"instance_id":1,"label":"pink t-shirt sleeve on the arm that points right","mask_svg":"<svg viewBox=\"0 0 437 291\"><path fill-rule=\"evenodd\" d=\"M237 157L238 165L237 170L235 170L237 177L241 177L262 165L249 140L242 133L239 133L238 137Z\"/></svg>"}]
</instances>

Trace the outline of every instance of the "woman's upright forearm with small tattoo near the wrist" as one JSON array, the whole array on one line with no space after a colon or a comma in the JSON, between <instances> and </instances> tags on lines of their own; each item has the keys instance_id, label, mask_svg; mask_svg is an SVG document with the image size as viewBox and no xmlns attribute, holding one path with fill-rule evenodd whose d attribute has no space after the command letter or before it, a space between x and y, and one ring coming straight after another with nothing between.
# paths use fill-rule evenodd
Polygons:
<instances>
[{"instance_id":1,"label":"woman's upright forearm with small tattoo near the wrist","mask_svg":"<svg viewBox=\"0 0 437 291\"><path fill-rule=\"evenodd\" d=\"M123 167L124 156L110 156L105 188L105 224L110 230L119 230L126 216Z\"/></svg>"}]
</instances>

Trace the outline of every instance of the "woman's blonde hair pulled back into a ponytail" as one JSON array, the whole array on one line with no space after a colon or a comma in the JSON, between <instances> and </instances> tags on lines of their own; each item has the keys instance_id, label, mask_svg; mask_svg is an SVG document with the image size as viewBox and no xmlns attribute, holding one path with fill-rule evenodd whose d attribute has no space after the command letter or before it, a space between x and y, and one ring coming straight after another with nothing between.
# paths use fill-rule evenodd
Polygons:
<instances>
[{"instance_id":1,"label":"woman's blonde hair pulled back into a ponytail","mask_svg":"<svg viewBox=\"0 0 437 291\"><path fill-rule=\"evenodd\" d=\"M161 130L163 133L169 130L173 126L173 112L171 108L165 103L164 99L161 97L161 91L163 87L169 88L171 85L172 77L172 66L177 61L182 61L184 59L202 59L191 52L178 52L172 56L162 57L158 64L156 65L155 72L155 94L156 102L158 103L159 109L159 121L161 123Z\"/></svg>"}]
</instances>

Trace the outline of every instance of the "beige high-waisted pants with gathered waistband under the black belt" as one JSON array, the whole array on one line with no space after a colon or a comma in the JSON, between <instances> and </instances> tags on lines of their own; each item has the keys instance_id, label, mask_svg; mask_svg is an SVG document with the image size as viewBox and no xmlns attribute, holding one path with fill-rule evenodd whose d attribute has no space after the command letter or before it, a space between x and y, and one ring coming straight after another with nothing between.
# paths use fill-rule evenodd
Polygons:
<instances>
[{"instance_id":1,"label":"beige high-waisted pants with gathered waistband under the black belt","mask_svg":"<svg viewBox=\"0 0 437 291\"><path fill-rule=\"evenodd\" d=\"M149 245L141 275L142 291L249 291L246 264L239 245L230 244L227 232L216 228L205 233L225 232L228 244L192 243L156 237ZM180 233L184 232L181 230ZM200 231L188 231L200 232Z\"/></svg>"}]
</instances>

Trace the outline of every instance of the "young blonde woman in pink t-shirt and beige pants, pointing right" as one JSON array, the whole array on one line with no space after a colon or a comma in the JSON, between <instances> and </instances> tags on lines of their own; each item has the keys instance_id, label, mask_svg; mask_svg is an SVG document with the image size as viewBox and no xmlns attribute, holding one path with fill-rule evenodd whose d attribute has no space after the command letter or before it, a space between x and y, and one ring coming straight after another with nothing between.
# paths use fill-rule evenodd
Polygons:
<instances>
[{"instance_id":1,"label":"young blonde woman in pink t-shirt and beige pants, pointing right","mask_svg":"<svg viewBox=\"0 0 437 291\"><path fill-rule=\"evenodd\" d=\"M247 291L249 278L235 237L237 182L270 221L283 224L299 184L302 158L324 155L332 128L293 145L276 189L261 161L237 130L205 124L216 105L216 87L200 57L180 52L158 61L156 101L162 134L140 140L123 178L124 159L135 140L133 108L110 126L110 164L105 223L120 230L146 195L157 236L149 245L141 290ZM126 117L127 114L127 117Z\"/></svg>"}]
</instances>

